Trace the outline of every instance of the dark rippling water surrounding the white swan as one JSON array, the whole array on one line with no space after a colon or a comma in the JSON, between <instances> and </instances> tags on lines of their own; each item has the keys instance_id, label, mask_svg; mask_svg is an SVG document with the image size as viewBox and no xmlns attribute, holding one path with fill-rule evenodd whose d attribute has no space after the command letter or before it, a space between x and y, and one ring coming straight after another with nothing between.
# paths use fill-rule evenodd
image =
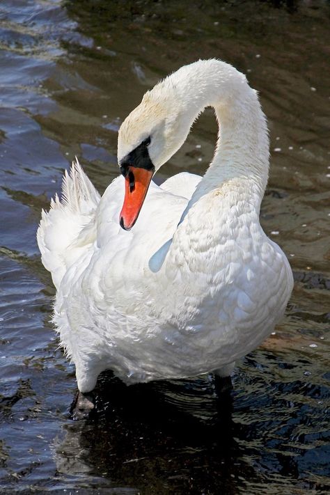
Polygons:
<instances>
[{"instance_id":1,"label":"dark rippling water surrounding the white swan","mask_svg":"<svg viewBox=\"0 0 330 495\"><path fill-rule=\"evenodd\" d=\"M329 15L326 1L1 0L1 494L328 493ZM294 270L285 319L219 399L212 377L104 377L98 414L71 421L40 209L74 155L103 191L143 92L213 56L246 72L269 118L262 225ZM216 132L207 111L159 180L204 171Z\"/></svg>"}]
</instances>

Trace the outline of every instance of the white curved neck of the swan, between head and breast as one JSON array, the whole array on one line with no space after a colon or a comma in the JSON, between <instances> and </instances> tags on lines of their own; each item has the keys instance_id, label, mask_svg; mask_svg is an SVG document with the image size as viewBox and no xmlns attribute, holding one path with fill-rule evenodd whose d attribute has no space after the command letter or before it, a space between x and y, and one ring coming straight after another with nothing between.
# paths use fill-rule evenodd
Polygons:
<instances>
[{"instance_id":1,"label":"white curved neck of the swan, between head and breast","mask_svg":"<svg viewBox=\"0 0 330 495\"><path fill-rule=\"evenodd\" d=\"M182 69L184 74L176 74L187 117L194 122L205 107L211 106L219 123L214 158L189 207L228 182L233 187L246 184L250 201L260 207L268 178L269 141L256 91L244 74L221 61L199 61Z\"/></svg>"}]
</instances>

